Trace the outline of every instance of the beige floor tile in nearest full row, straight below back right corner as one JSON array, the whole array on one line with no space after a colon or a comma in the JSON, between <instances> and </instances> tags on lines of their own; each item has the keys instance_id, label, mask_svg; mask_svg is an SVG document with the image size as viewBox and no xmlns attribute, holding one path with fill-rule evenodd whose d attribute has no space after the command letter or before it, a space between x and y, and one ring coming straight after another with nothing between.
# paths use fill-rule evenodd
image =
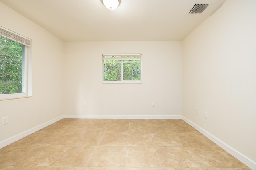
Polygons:
<instances>
[{"instance_id":1,"label":"beige floor tile in nearest full row, straight below back right corner","mask_svg":"<svg viewBox=\"0 0 256 170\"><path fill-rule=\"evenodd\" d=\"M156 147L162 167L200 167L185 147Z\"/></svg>"}]
</instances>

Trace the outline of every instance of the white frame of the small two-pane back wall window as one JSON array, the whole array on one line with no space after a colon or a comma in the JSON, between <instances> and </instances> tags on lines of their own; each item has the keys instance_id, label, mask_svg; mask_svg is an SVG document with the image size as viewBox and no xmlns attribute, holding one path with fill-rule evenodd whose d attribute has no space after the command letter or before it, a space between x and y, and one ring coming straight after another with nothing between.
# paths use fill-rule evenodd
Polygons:
<instances>
[{"instance_id":1,"label":"white frame of the small two-pane back wall window","mask_svg":"<svg viewBox=\"0 0 256 170\"><path fill-rule=\"evenodd\" d=\"M140 80L123 80L123 61L125 59L104 59L104 56L138 56L140 55ZM129 58L130 60L132 58ZM104 81L104 60L120 60L121 61L121 80L120 81ZM142 54L102 54L102 82L103 83L134 83L140 84L142 83Z\"/></svg>"}]
</instances>

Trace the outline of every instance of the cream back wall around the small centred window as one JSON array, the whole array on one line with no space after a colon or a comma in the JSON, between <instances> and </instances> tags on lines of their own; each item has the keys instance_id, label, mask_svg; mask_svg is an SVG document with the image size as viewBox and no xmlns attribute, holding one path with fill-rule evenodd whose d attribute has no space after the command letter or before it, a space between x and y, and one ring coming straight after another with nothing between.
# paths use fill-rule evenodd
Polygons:
<instances>
[{"instance_id":1,"label":"cream back wall around the small centred window","mask_svg":"<svg viewBox=\"0 0 256 170\"><path fill-rule=\"evenodd\" d=\"M181 41L67 42L64 49L65 114L181 115ZM103 84L104 53L142 53L142 84Z\"/></svg>"}]
</instances>

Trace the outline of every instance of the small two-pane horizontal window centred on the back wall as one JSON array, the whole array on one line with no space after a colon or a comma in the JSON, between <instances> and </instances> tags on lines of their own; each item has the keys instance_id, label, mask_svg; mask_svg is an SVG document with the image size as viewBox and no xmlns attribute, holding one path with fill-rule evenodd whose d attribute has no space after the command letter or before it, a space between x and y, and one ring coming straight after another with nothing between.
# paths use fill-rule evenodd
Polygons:
<instances>
[{"instance_id":1,"label":"small two-pane horizontal window centred on the back wall","mask_svg":"<svg viewBox=\"0 0 256 170\"><path fill-rule=\"evenodd\" d=\"M103 54L104 83L141 83L142 54Z\"/></svg>"}]
</instances>

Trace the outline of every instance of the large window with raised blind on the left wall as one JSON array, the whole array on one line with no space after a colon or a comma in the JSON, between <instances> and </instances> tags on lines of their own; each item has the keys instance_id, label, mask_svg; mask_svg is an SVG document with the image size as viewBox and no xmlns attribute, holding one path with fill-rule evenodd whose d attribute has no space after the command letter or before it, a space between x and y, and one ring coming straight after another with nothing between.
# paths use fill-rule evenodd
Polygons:
<instances>
[{"instance_id":1,"label":"large window with raised blind on the left wall","mask_svg":"<svg viewBox=\"0 0 256 170\"><path fill-rule=\"evenodd\" d=\"M29 46L30 39L0 27L0 99L28 96Z\"/></svg>"}]
</instances>

